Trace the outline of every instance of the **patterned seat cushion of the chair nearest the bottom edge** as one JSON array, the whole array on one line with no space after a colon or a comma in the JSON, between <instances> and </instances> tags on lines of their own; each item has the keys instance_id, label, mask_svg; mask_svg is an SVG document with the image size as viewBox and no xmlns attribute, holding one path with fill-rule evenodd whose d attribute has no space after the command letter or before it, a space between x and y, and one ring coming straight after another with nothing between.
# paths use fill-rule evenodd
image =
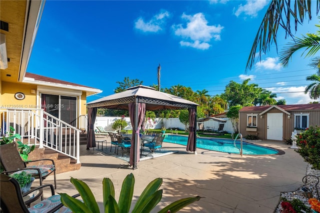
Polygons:
<instances>
[{"instance_id":1,"label":"patterned seat cushion of the chair nearest the bottom edge","mask_svg":"<svg viewBox=\"0 0 320 213\"><path fill-rule=\"evenodd\" d=\"M51 210L53 207L55 207L60 203L61 203L60 195L56 194L48 197L47 199L40 201L39 203L33 205L32 207L29 207L28 210L30 211L30 213L48 212L49 210ZM69 208L62 206L55 212L66 213L66 212L72 212L72 211Z\"/></svg>"}]
</instances>

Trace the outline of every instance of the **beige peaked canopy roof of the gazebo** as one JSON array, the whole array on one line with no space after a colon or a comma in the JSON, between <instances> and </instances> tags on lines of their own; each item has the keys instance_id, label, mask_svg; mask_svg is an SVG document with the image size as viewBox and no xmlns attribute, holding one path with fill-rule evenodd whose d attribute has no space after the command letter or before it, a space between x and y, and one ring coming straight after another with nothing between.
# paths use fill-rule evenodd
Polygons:
<instances>
[{"instance_id":1,"label":"beige peaked canopy roof of the gazebo","mask_svg":"<svg viewBox=\"0 0 320 213\"><path fill-rule=\"evenodd\" d=\"M128 103L134 102L135 98L138 98L138 102L145 103L146 110L196 108L198 105L182 97L157 91L149 86L137 85L127 88L125 91L88 102L87 107L128 109Z\"/></svg>"}]
</instances>

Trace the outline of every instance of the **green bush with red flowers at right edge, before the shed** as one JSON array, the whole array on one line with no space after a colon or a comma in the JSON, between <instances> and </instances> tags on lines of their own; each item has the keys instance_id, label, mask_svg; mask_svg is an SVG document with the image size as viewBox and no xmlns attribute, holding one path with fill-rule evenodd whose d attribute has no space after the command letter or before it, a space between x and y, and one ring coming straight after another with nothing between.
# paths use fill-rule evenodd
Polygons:
<instances>
[{"instance_id":1,"label":"green bush with red flowers at right edge, before the shed","mask_svg":"<svg viewBox=\"0 0 320 213\"><path fill-rule=\"evenodd\" d=\"M295 149L305 162L312 165L314 169L320 169L320 126L309 126L303 132L297 135Z\"/></svg>"}]
</instances>

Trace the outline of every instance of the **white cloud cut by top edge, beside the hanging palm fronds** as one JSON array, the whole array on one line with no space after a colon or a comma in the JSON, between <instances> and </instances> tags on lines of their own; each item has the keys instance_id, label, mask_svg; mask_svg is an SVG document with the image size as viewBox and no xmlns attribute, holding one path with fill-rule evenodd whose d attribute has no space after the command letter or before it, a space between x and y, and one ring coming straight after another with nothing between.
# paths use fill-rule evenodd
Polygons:
<instances>
[{"instance_id":1,"label":"white cloud cut by top edge, beside the hanging palm fronds","mask_svg":"<svg viewBox=\"0 0 320 213\"><path fill-rule=\"evenodd\" d=\"M243 12L245 15L255 17L268 2L268 0L247 0L244 5L238 6L234 14L238 17Z\"/></svg>"}]
</instances>

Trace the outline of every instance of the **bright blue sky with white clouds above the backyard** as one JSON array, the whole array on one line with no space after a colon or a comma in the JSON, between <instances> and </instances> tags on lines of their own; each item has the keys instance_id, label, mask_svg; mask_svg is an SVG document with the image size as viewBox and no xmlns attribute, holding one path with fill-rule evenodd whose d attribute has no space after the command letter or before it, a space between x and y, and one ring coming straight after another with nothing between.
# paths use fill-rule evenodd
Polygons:
<instances>
[{"instance_id":1,"label":"bright blue sky with white clouds above the backyard","mask_svg":"<svg viewBox=\"0 0 320 213\"><path fill-rule=\"evenodd\" d=\"M113 93L116 81L139 79L161 87L181 84L193 91L221 94L230 80L250 83L286 99L311 101L304 91L310 58L295 53L279 66L275 46L245 73L246 61L269 1L57 1L45 2L28 72ZM315 5L315 4L314 4ZM296 36L315 32L314 15L298 25ZM279 29L279 51L291 41Z\"/></svg>"}]
</instances>

